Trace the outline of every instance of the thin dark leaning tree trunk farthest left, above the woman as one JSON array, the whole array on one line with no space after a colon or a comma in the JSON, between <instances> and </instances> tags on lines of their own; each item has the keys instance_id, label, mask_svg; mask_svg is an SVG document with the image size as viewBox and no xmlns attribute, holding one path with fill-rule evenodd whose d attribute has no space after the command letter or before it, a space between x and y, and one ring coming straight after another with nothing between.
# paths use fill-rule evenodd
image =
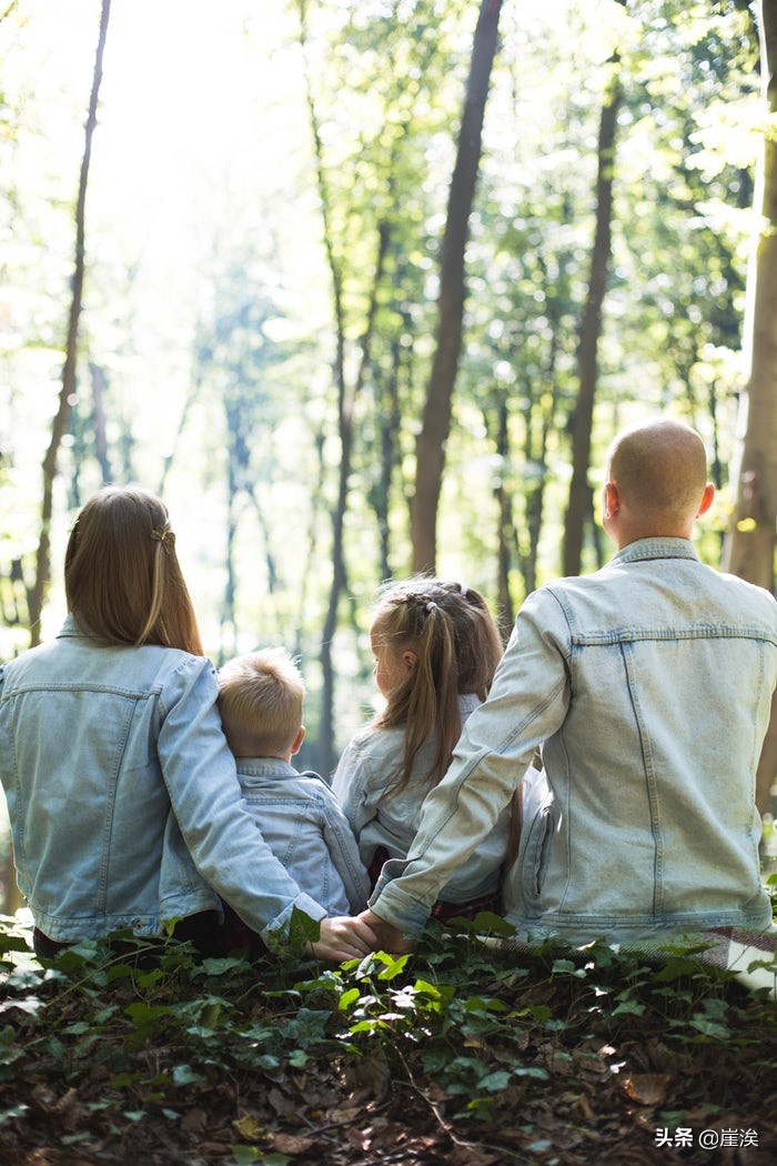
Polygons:
<instances>
[{"instance_id":1,"label":"thin dark leaning tree trunk farthest left, above the woman","mask_svg":"<svg viewBox=\"0 0 777 1166\"><path fill-rule=\"evenodd\" d=\"M41 538L37 547L37 559L35 569L35 582L30 598L30 644L36 645L41 639L41 612L51 581L51 513L54 508L54 482L57 473L57 456L62 438L70 419L71 402L76 393L76 364L78 359L78 322L84 296L84 269L85 269L85 219L86 219L86 187L89 182L89 167L92 156L92 136L97 126L97 103L103 80L103 56L105 52L105 40L108 31L108 17L111 14L111 0L103 0L100 10L100 31L97 42L97 55L94 58L94 72L92 76L92 93L86 115L86 131L84 142L84 155L80 166L80 178L78 183L78 198L76 202L76 261L72 278L72 298L70 302L70 318L68 322L68 338L65 344L65 360L62 370L62 388L59 391L59 403L51 423L51 437L49 448L43 458L43 504L41 507Z\"/></svg>"}]
</instances>

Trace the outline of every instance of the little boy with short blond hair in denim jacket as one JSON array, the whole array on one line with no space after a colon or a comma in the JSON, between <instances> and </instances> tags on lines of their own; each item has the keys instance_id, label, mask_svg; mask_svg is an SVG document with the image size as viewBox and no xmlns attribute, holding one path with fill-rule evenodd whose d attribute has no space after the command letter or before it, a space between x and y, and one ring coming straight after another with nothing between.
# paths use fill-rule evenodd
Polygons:
<instances>
[{"instance_id":1,"label":"little boy with short blond hair in denim jacket","mask_svg":"<svg viewBox=\"0 0 777 1166\"><path fill-rule=\"evenodd\" d=\"M361 911L369 893L359 847L338 801L291 758L305 737L305 686L283 648L229 660L219 672L219 709L242 795L274 855L329 915Z\"/></svg>"}]
</instances>

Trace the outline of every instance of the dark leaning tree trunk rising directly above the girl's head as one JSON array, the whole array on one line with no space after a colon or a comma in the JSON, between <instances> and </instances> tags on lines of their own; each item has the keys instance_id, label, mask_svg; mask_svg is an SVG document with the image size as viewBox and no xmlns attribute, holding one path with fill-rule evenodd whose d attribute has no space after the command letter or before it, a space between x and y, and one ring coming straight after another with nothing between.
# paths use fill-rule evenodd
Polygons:
<instances>
[{"instance_id":1,"label":"dark leaning tree trunk rising directly above the girl's head","mask_svg":"<svg viewBox=\"0 0 777 1166\"><path fill-rule=\"evenodd\" d=\"M416 443L416 485L410 507L412 568L436 570L437 508L451 429L451 402L461 352L465 251L474 199L483 117L496 52L502 0L482 0L472 47L455 166L448 192L437 301L437 347Z\"/></svg>"}]
</instances>

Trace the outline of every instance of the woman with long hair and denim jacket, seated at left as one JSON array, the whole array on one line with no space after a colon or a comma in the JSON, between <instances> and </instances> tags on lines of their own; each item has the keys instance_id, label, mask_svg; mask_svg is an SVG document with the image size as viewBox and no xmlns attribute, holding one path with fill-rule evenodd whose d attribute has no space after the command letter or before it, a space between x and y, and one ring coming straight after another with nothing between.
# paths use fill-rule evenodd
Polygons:
<instances>
[{"instance_id":1,"label":"woman with long hair and denim jacket, seated at left","mask_svg":"<svg viewBox=\"0 0 777 1166\"><path fill-rule=\"evenodd\" d=\"M316 955L365 954L369 928L325 918L246 810L163 503L134 486L91 498L65 593L56 639L0 669L0 778L38 955L122 928L218 950L222 901L268 946L296 907L320 922Z\"/></svg>"}]
</instances>

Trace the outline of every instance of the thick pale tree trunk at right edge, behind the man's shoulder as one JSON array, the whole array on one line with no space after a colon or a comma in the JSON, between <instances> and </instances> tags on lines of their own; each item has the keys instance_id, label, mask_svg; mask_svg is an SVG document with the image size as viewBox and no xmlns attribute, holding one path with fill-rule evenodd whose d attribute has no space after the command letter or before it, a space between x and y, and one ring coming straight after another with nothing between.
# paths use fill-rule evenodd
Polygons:
<instances>
[{"instance_id":1,"label":"thick pale tree trunk at right edge, behind the man's shoulder","mask_svg":"<svg viewBox=\"0 0 777 1166\"><path fill-rule=\"evenodd\" d=\"M761 75L769 114L777 113L777 3L762 0L760 10ZM741 407L744 438L740 454L737 497L726 539L723 567L768 590L775 584L777 524L777 140L764 134L755 212L757 247L748 272L746 343L749 375ZM769 808L777 777L777 701L761 754L756 800Z\"/></svg>"}]
</instances>

